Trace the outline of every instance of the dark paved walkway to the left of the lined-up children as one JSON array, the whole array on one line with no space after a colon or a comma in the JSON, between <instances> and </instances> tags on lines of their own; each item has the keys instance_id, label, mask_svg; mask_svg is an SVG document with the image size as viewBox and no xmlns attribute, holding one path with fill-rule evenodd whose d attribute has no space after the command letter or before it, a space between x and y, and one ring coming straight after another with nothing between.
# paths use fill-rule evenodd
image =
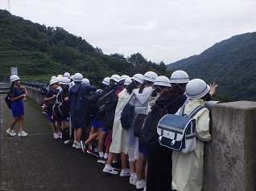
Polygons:
<instances>
[{"instance_id":1,"label":"dark paved walkway to the left of the lined-up children","mask_svg":"<svg viewBox=\"0 0 256 191\"><path fill-rule=\"evenodd\" d=\"M135 190L129 177L102 173L104 165L95 157L52 139L47 116L29 99L24 100L29 136L8 136L13 118L4 97L0 95L1 190ZM18 124L14 129L18 132Z\"/></svg>"}]
</instances>

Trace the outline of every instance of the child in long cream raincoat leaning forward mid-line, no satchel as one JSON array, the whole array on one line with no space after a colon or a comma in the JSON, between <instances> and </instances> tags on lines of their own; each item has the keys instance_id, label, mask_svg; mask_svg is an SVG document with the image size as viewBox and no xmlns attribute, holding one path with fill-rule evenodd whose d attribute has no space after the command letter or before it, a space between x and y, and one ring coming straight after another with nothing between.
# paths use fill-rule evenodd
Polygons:
<instances>
[{"instance_id":1,"label":"child in long cream raincoat leaning forward mid-line, no satchel","mask_svg":"<svg viewBox=\"0 0 256 191\"><path fill-rule=\"evenodd\" d=\"M112 143L109 148L109 158L103 169L103 172L110 174L118 174L118 171L114 170L111 163L114 160L114 154L121 153L121 161L122 161L122 171L120 173L120 177L130 176L130 171L127 169L126 161L127 161L127 138L128 131L122 128L121 124L121 113L122 109L125 107L126 103L130 98L130 94L134 91L134 89L141 86L143 83L143 75L136 74L132 79L125 79L124 85L126 88L118 94L118 105L115 110L114 116L114 126L112 133Z\"/></svg>"}]
</instances>

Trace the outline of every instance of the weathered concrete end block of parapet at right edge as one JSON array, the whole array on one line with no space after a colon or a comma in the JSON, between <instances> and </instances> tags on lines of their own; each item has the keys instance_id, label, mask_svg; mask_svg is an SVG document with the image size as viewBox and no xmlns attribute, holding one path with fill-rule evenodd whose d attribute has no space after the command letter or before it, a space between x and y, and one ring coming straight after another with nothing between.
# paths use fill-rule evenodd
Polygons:
<instances>
[{"instance_id":1,"label":"weathered concrete end block of parapet at right edge","mask_svg":"<svg viewBox=\"0 0 256 191\"><path fill-rule=\"evenodd\" d=\"M214 105L212 139L204 148L204 190L256 190L256 102Z\"/></svg>"}]
</instances>

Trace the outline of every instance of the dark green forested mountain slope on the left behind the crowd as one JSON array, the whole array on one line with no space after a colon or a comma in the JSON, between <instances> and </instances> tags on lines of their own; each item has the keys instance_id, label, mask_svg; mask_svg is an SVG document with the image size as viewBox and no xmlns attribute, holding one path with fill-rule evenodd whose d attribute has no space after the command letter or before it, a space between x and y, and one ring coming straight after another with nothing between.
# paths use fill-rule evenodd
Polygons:
<instances>
[{"instance_id":1,"label":"dark green forested mountain slope on the left behind the crowd","mask_svg":"<svg viewBox=\"0 0 256 191\"><path fill-rule=\"evenodd\" d=\"M171 74L166 65L147 61L136 53L105 55L85 39L61 27L40 25L0 10L0 75L10 74L10 67L19 67L23 79L44 79L65 71L81 72L94 84L113 74L134 75L155 71Z\"/></svg>"}]
</instances>

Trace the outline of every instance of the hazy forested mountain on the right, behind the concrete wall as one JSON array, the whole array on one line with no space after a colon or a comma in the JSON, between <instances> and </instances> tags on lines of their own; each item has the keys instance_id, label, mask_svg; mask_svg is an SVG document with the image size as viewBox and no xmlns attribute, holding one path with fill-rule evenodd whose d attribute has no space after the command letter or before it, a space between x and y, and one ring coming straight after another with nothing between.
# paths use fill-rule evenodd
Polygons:
<instances>
[{"instance_id":1,"label":"hazy forested mountain on the right, behind the concrete wall","mask_svg":"<svg viewBox=\"0 0 256 191\"><path fill-rule=\"evenodd\" d=\"M256 32L223 40L167 68L187 71L191 79L217 82L217 92L233 100L256 100Z\"/></svg>"}]
</instances>

